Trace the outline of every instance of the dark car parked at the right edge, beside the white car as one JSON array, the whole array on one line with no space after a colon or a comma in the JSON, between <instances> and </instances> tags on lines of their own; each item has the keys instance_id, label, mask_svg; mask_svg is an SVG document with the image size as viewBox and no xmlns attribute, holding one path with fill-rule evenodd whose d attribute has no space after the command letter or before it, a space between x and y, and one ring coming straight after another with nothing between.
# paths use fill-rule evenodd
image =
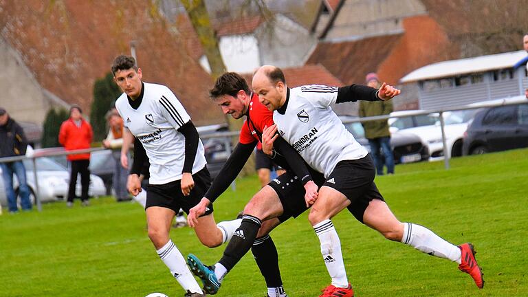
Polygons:
<instances>
[{"instance_id":1,"label":"dark car parked at the right edge, beside the white car","mask_svg":"<svg viewBox=\"0 0 528 297\"><path fill-rule=\"evenodd\" d=\"M528 146L528 103L479 109L467 127L462 151L475 155Z\"/></svg>"}]
</instances>

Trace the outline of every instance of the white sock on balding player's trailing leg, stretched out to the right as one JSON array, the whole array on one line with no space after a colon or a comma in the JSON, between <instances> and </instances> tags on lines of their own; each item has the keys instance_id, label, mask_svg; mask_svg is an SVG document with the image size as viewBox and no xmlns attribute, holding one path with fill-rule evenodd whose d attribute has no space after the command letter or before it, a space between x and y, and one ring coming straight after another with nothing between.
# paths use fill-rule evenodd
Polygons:
<instances>
[{"instance_id":1,"label":"white sock on balding player's trailing leg, stretched out to the right","mask_svg":"<svg viewBox=\"0 0 528 297\"><path fill-rule=\"evenodd\" d=\"M445 241L423 225L404 223L404 237L401 242L431 256L461 263L460 248Z\"/></svg>"}]
</instances>

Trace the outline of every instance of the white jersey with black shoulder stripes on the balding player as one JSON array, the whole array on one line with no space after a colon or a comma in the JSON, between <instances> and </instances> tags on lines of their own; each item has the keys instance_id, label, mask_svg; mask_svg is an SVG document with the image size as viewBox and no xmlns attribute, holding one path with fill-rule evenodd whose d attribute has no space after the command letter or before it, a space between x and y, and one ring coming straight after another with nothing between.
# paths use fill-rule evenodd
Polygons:
<instances>
[{"instance_id":1,"label":"white jersey with black shoulder stripes on the balding player","mask_svg":"<svg viewBox=\"0 0 528 297\"><path fill-rule=\"evenodd\" d=\"M338 91L343 90L324 85L288 89L285 104L273 113L278 133L325 177L338 162L361 159L369 153L330 107L336 103Z\"/></svg>"}]
</instances>

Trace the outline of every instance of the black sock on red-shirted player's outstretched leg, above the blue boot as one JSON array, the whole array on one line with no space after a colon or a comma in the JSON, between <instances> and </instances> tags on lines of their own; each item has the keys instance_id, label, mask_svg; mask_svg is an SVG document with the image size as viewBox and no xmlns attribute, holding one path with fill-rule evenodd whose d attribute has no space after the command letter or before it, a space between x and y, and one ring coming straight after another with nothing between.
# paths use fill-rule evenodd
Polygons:
<instances>
[{"instance_id":1,"label":"black sock on red-shirted player's outstretched leg, above the blue boot","mask_svg":"<svg viewBox=\"0 0 528 297\"><path fill-rule=\"evenodd\" d=\"M244 214L240 227L233 233L233 237L229 241L227 248L225 248L219 263L230 271L250 250L260 228L261 220L249 214Z\"/></svg>"}]
</instances>

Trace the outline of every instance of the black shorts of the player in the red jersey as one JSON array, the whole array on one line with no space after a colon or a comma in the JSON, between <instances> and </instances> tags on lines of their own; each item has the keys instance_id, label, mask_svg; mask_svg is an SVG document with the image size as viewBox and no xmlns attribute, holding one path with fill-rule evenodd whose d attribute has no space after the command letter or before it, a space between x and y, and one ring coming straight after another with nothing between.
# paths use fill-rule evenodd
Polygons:
<instances>
[{"instance_id":1,"label":"black shorts of the player in the red jersey","mask_svg":"<svg viewBox=\"0 0 528 297\"><path fill-rule=\"evenodd\" d=\"M317 186L322 186L325 182L325 177L322 174L312 171L310 171L310 174ZM275 190L278 199L281 200L283 205L283 214L278 217L281 223L291 217L298 217L299 214L308 209L305 201L305 187L292 171L288 170L279 175L276 179L270 181L268 186Z\"/></svg>"}]
</instances>

